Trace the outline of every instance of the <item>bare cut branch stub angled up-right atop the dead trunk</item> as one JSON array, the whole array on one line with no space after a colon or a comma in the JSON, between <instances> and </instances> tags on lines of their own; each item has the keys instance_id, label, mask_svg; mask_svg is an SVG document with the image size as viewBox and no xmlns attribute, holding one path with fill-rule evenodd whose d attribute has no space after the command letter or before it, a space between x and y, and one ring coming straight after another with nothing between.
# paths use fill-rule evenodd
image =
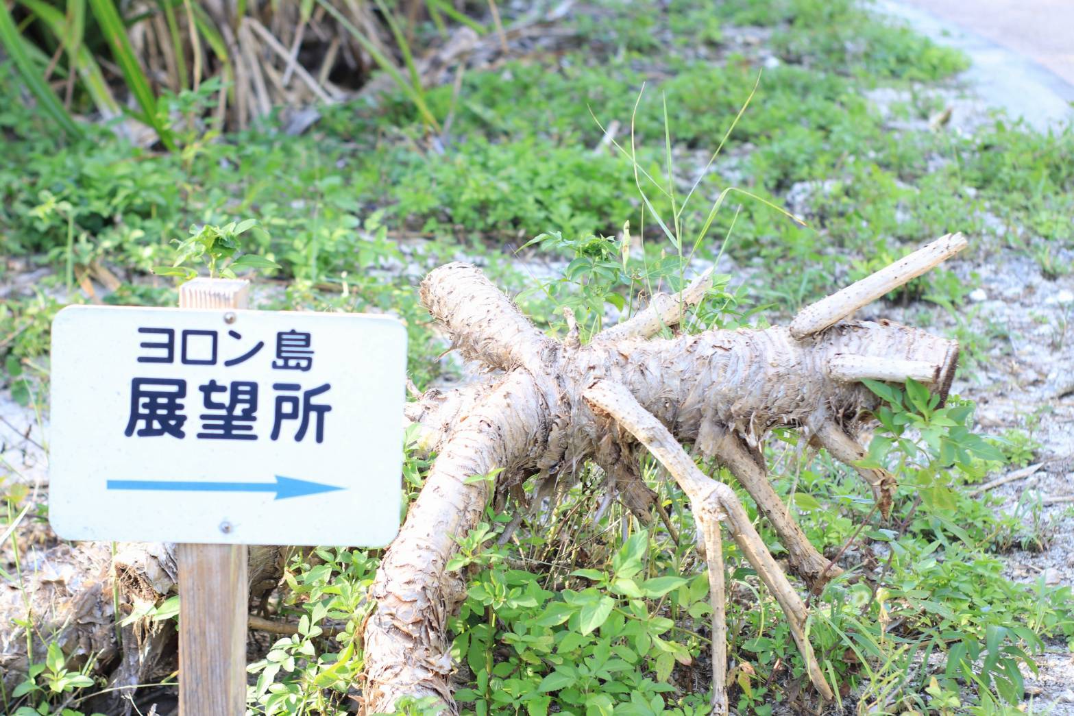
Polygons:
<instances>
[{"instance_id":1,"label":"bare cut branch stub angled up-right atop the dead trunk","mask_svg":"<svg viewBox=\"0 0 1074 716\"><path fill-rule=\"evenodd\" d=\"M910 282L967 247L962 234L946 234L860 281L798 311L790 335L801 340L834 325L866 304Z\"/></svg>"}]
</instances>

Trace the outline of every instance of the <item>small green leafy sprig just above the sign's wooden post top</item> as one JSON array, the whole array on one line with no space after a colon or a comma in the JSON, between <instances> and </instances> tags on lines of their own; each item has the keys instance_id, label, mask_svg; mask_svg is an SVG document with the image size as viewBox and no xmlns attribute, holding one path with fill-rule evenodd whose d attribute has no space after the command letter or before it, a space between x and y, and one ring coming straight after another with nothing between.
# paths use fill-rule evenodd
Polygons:
<instances>
[{"instance_id":1,"label":"small green leafy sprig just above the sign's wooden post top","mask_svg":"<svg viewBox=\"0 0 1074 716\"><path fill-rule=\"evenodd\" d=\"M267 240L264 230L258 227L256 219L216 227L205 224L191 227L190 236L183 240L176 239L175 263L171 266L160 266L154 269L158 276L180 276L189 281L198 275L198 269L186 265L203 262L208 266L211 278L235 278L235 271L242 268L279 268L279 264L256 253L238 252L238 237L251 232L256 238Z\"/></svg>"}]
</instances>

